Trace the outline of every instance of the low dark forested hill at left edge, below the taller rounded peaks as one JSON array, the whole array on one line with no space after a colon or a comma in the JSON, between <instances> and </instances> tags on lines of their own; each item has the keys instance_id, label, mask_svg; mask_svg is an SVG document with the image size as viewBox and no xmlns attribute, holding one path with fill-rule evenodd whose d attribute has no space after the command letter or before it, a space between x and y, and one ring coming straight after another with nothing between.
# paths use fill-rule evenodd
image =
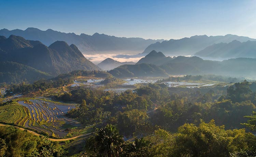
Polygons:
<instances>
[{"instance_id":1,"label":"low dark forested hill at left edge, below the taller rounded peaks","mask_svg":"<svg viewBox=\"0 0 256 157\"><path fill-rule=\"evenodd\" d=\"M0 62L0 83L32 83L40 78L49 78L50 75L15 62Z\"/></svg>"}]
</instances>

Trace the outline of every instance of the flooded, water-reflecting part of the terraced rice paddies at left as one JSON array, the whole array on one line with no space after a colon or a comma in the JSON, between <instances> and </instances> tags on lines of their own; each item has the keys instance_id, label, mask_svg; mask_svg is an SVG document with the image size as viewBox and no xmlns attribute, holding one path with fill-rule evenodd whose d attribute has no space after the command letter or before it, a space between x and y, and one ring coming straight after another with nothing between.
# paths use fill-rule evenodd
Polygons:
<instances>
[{"instance_id":1,"label":"flooded, water-reflecting part of the terraced rice paddies at left","mask_svg":"<svg viewBox=\"0 0 256 157\"><path fill-rule=\"evenodd\" d=\"M53 103L40 99L18 101L18 103L24 106L27 115L17 122L20 126L46 132L49 136L58 138L63 138L68 134L65 131L66 128L63 127L64 124L71 127L80 126L75 120L65 117L65 113L75 108L74 105Z\"/></svg>"}]
</instances>

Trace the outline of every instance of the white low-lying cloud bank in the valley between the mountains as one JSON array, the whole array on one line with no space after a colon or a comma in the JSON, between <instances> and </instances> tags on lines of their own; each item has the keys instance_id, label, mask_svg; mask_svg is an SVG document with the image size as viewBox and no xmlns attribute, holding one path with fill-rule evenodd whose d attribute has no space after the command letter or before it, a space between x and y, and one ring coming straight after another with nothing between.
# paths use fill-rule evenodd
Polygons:
<instances>
[{"instance_id":1,"label":"white low-lying cloud bank in the valley between the mountains","mask_svg":"<svg viewBox=\"0 0 256 157\"><path fill-rule=\"evenodd\" d=\"M133 61L138 62L142 57L145 57L145 54L138 55L117 55L117 54L97 54L97 55L85 55L85 58L89 59L94 64L100 63L102 60L106 58L112 58L119 62Z\"/></svg>"}]
</instances>

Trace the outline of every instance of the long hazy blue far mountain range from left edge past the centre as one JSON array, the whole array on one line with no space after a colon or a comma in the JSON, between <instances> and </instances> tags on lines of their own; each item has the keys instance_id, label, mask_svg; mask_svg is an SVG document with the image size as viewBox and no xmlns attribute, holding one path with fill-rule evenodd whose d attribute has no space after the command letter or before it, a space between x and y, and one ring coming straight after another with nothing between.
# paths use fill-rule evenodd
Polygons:
<instances>
[{"instance_id":1,"label":"long hazy blue far mountain range from left edge past the centre","mask_svg":"<svg viewBox=\"0 0 256 157\"><path fill-rule=\"evenodd\" d=\"M129 54L137 54L144 51L144 49L155 42L162 42L163 40L152 40L142 38L119 38L115 36L95 33L93 35L75 33L62 33L47 29L42 31L37 28L27 28L26 30L0 30L0 35L6 38L10 35L18 35L28 40L39 40L45 45L50 45L55 41L65 41L68 44L75 44L80 51L91 53L120 53L126 52Z\"/></svg>"}]
</instances>

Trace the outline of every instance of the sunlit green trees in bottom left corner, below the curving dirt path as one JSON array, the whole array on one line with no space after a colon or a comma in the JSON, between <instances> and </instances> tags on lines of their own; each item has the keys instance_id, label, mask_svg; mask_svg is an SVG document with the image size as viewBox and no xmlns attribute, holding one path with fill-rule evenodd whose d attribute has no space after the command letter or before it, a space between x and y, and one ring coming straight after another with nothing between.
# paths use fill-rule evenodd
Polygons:
<instances>
[{"instance_id":1,"label":"sunlit green trees in bottom left corner, below the curving dirt path","mask_svg":"<svg viewBox=\"0 0 256 157\"><path fill-rule=\"evenodd\" d=\"M14 127L0 127L0 151L1 156L6 157L61 157L64 155L58 143L43 136L33 136L26 130L22 131Z\"/></svg>"}]
</instances>

